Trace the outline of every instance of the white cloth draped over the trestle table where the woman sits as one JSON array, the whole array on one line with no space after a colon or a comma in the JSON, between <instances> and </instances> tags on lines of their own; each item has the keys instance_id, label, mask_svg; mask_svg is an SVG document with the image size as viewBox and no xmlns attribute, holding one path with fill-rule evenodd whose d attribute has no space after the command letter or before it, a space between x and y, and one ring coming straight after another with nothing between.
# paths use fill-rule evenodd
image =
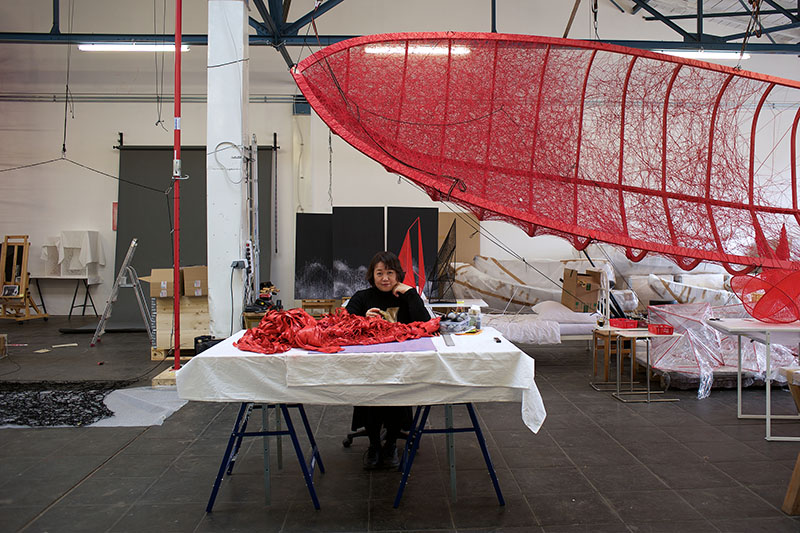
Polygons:
<instances>
[{"instance_id":1,"label":"white cloth draped over the trestle table where the woman sits","mask_svg":"<svg viewBox=\"0 0 800 533\"><path fill-rule=\"evenodd\" d=\"M537 432L547 415L534 362L497 330L434 337L436 351L263 355L233 347L243 331L193 357L176 375L185 400L322 405L521 401ZM495 342L497 338L500 342Z\"/></svg>"}]
</instances>

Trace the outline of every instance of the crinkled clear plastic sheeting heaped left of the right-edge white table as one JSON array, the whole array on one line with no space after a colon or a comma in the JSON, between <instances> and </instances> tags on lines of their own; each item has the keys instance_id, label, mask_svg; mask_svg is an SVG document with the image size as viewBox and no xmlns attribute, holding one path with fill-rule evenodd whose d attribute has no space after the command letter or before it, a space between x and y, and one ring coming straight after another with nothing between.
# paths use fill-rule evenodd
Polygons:
<instances>
[{"instance_id":1,"label":"crinkled clear plastic sheeting heaped left of the right-edge white table","mask_svg":"<svg viewBox=\"0 0 800 533\"><path fill-rule=\"evenodd\" d=\"M708 303L650 306L651 324L670 324L680 337L655 338L651 341L651 365L665 373L679 372L700 377L697 397L711 393L714 373L736 372L737 337L722 335L709 327L709 318L742 318L747 313L741 305L712 307ZM786 382L778 371L782 366L797 364L792 351L779 344L771 345L771 379ZM742 371L755 374L760 380L766 373L766 348L757 342L742 341Z\"/></svg>"}]
</instances>

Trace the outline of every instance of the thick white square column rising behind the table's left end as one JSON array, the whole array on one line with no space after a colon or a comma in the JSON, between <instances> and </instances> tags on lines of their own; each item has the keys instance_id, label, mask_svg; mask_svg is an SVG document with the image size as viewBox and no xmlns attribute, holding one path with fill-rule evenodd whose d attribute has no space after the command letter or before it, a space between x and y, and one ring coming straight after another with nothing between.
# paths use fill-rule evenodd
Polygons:
<instances>
[{"instance_id":1,"label":"thick white square column rising behind the table's left end","mask_svg":"<svg viewBox=\"0 0 800 533\"><path fill-rule=\"evenodd\" d=\"M208 311L211 334L227 337L241 324L247 217L243 147L247 141L249 70L245 0L208 2L208 121L206 192ZM187 231L191 231L187 228ZM233 298L231 298L233 287Z\"/></svg>"}]
</instances>

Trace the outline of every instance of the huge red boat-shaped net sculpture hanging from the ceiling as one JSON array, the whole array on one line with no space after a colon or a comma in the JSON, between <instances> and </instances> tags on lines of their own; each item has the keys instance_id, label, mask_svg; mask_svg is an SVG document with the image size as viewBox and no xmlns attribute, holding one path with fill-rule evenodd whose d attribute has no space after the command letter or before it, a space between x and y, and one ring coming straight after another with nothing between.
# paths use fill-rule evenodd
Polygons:
<instances>
[{"instance_id":1,"label":"huge red boat-shaped net sculpture hanging from the ceiling","mask_svg":"<svg viewBox=\"0 0 800 533\"><path fill-rule=\"evenodd\" d=\"M800 268L800 82L484 33L360 37L293 75L336 134L480 220L685 269Z\"/></svg>"}]
</instances>

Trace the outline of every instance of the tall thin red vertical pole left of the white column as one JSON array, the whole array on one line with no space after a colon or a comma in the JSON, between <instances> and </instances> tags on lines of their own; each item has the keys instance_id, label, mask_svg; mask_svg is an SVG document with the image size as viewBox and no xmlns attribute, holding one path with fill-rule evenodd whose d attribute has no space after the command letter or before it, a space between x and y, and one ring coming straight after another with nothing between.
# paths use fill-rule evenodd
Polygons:
<instances>
[{"instance_id":1,"label":"tall thin red vertical pole left of the white column","mask_svg":"<svg viewBox=\"0 0 800 533\"><path fill-rule=\"evenodd\" d=\"M175 0L175 147L172 161L172 191L175 211L173 233L175 263L172 265L172 289L175 313L175 364L181 367L181 0Z\"/></svg>"}]
</instances>

